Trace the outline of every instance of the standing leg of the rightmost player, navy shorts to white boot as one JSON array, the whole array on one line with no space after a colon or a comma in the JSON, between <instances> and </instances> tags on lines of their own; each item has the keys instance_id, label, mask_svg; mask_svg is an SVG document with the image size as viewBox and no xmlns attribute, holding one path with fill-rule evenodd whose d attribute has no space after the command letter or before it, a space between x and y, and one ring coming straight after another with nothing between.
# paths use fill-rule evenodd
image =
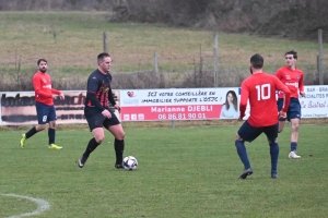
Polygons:
<instances>
[{"instance_id":1,"label":"standing leg of the rightmost player, navy shorts to white boot","mask_svg":"<svg viewBox=\"0 0 328 218\"><path fill-rule=\"evenodd\" d=\"M291 153L289 158L300 159L301 156L296 154L298 144L298 130L301 120L301 105L297 98L292 98L289 108L289 120L291 121L292 134L291 134Z\"/></svg>"}]
</instances>

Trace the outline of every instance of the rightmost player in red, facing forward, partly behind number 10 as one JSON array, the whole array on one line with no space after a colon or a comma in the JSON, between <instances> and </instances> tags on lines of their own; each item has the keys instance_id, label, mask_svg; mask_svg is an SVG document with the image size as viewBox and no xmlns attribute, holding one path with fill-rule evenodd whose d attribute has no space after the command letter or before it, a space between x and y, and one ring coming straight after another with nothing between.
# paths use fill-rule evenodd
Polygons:
<instances>
[{"instance_id":1,"label":"rightmost player in red, facing forward, partly behind number 10","mask_svg":"<svg viewBox=\"0 0 328 218\"><path fill-rule=\"evenodd\" d=\"M279 130L282 132L285 120L291 122L292 135L291 135L291 152L289 158L300 159L301 156L296 154L298 142L298 126L301 120L301 104L298 101L298 93L302 97L305 97L304 93L304 78L303 71L295 66L297 61L297 52L294 50L288 51L284 55L286 65L279 69L276 72L276 76L285 84L291 90L291 102L286 111L286 118L279 119ZM284 104L283 93L278 94L278 110L282 108Z\"/></svg>"}]
</instances>

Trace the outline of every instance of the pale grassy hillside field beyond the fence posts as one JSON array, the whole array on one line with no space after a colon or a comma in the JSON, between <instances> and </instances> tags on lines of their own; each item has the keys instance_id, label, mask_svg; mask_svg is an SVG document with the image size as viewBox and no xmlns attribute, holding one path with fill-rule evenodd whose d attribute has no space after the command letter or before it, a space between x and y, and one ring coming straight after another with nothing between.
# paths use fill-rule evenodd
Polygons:
<instances>
[{"instance_id":1,"label":"pale grassy hillside field beyond the fence posts","mask_svg":"<svg viewBox=\"0 0 328 218\"><path fill-rule=\"evenodd\" d=\"M171 28L155 24L112 23L106 12L0 12L0 73L22 72L35 68L46 58L56 74L90 74L96 56L103 50L103 32L107 33L114 72L153 70L153 52L166 72L192 71L200 62L213 69L213 31ZM324 47L327 44L324 45ZM286 50L298 51L301 69L316 69L316 41L265 38L248 34L219 34L219 65L248 69L249 57L265 57L267 71L284 64ZM328 57L324 49L324 57ZM55 76L55 75L54 75Z\"/></svg>"}]
</instances>

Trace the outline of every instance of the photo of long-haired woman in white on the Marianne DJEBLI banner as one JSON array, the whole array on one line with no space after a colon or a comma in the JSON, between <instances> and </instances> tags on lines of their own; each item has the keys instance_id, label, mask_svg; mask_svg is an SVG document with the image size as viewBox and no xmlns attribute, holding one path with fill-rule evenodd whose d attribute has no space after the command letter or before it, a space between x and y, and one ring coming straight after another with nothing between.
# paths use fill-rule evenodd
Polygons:
<instances>
[{"instance_id":1,"label":"photo of long-haired woman in white on the Marianne DJEBLI banner","mask_svg":"<svg viewBox=\"0 0 328 218\"><path fill-rule=\"evenodd\" d=\"M221 119L237 119L238 118L238 99L234 90L229 90L225 96L225 102L222 106Z\"/></svg>"}]
</instances>

